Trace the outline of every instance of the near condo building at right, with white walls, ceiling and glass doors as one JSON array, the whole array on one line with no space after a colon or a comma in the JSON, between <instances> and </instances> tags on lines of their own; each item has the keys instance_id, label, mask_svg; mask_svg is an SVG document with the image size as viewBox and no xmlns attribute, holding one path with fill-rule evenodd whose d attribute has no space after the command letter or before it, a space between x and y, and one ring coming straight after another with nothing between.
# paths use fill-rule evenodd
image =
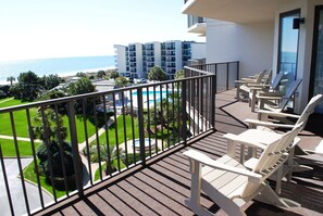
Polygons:
<instances>
[{"instance_id":1,"label":"near condo building at right, with white walls, ceiling and glass doors","mask_svg":"<svg viewBox=\"0 0 323 216\"><path fill-rule=\"evenodd\" d=\"M323 0L185 0L183 13L206 17L207 63L239 61L239 75L273 68L290 84L302 79L295 94L296 113L323 92ZM202 18L200 18L202 21ZM323 102L316 106L323 113Z\"/></svg>"}]
</instances>

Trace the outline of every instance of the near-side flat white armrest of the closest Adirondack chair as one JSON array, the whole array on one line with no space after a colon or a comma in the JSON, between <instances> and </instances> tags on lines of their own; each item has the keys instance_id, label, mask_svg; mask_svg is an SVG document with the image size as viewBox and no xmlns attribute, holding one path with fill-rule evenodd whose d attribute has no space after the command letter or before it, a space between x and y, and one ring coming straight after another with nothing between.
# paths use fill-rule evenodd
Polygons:
<instances>
[{"instance_id":1,"label":"near-side flat white armrest of the closest Adirondack chair","mask_svg":"<svg viewBox=\"0 0 323 216\"><path fill-rule=\"evenodd\" d=\"M218 169L231 171L234 174L247 176L250 178L250 181L252 181L252 182L261 182L261 178L262 178L261 175L250 171L248 169L243 169L243 168L228 166L226 164L220 163L220 162L214 161L211 157L209 157L206 154L200 153L198 151L188 150L188 151L184 152L183 154L195 162L199 162L199 163L210 166L212 168L218 168Z\"/></svg>"}]
</instances>

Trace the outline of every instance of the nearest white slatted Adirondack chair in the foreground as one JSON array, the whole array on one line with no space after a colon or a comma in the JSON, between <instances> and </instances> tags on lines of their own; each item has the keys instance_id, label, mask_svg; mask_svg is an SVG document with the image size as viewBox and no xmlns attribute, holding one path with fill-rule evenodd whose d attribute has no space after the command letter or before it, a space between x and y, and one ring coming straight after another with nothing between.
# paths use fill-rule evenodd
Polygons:
<instances>
[{"instance_id":1,"label":"nearest white slatted Adirondack chair in the foreground","mask_svg":"<svg viewBox=\"0 0 323 216\"><path fill-rule=\"evenodd\" d=\"M282 174L283 164L288 158L287 152L293 148L293 140L300 127L297 125L284 135L261 131L263 135L260 139L254 139L254 132L259 132L257 129L249 129L238 136L225 135L228 139L227 154L216 161L195 150L184 152L189 158L191 171L190 199L186 204L198 215L212 215L200 204L203 191L223 211L234 216L246 215L243 206L252 199L284 207L299 206L298 203L279 198L266 179L276 170ZM265 134L268 139L263 137ZM263 151L260 157L252 157L243 164L235 158L237 143Z\"/></svg>"}]
</instances>

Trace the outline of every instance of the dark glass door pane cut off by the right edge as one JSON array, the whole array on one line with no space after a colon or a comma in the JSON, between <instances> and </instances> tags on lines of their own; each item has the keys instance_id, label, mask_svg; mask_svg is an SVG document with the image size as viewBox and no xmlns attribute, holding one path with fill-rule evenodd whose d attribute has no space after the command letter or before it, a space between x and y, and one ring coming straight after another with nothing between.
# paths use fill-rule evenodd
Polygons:
<instances>
[{"instance_id":1,"label":"dark glass door pane cut off by the right edge","mask_svg":"<svg viewBox=\"0 0 323 216\"><path fill-rule=\"evenodd\" d=\"M312 94L323 93L323 5L316 7L313 38L313 61L311 73ZM323 102L316 106L316 113L323 114Z\"/></svg>"}]
</instances>

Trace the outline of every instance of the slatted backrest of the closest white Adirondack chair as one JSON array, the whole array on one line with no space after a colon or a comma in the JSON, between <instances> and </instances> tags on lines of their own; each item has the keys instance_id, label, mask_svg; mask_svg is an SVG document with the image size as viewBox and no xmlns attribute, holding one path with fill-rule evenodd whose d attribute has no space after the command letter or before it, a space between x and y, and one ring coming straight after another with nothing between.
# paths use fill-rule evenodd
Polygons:
<instances>
[{"instance_id":1,"label":"slatted backrest of the closest white Adirondack chair","mask_svg":"<svg viewBox=\"0 0 323 216\"><path fill-rule=\"evenodd\" d=\"M293 147L294 139L300 131L302 125L302 123L295 125L293 130L284 134L281 139L266 145L258 158L258 163L252 169L253 173L262 175L263 180L259 183L249 181L241 193L243 198L252 194L260 185L276 170L278 166L283 166L283 158L286 158L285 153L287 153Z\"/></svg>"}]
</instances>

